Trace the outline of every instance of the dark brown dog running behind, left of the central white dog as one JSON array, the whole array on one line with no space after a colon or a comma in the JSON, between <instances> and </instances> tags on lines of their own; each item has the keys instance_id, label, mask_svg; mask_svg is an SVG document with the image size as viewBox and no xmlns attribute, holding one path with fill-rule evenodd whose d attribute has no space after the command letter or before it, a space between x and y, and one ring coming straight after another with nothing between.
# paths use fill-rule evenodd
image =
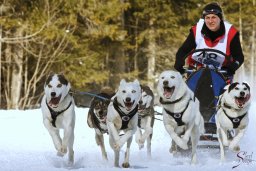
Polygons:
<instances>
[{"instance_id":1,"label":"dark brown dog running behind, left of the central white dog","mask_svg":"<svg viewBox=\"0 0 256 171\"><path fill-rule=\"evenodd\" d=\"M114 91L109 87L102 88L101 92L95 96L90 105L87 116L87 124L95 130L95 140L101 148L103 159L107 160L107 153L104 145L104 133L108 132L106 119L107 109Z\"/></svg>"}]
</instances>

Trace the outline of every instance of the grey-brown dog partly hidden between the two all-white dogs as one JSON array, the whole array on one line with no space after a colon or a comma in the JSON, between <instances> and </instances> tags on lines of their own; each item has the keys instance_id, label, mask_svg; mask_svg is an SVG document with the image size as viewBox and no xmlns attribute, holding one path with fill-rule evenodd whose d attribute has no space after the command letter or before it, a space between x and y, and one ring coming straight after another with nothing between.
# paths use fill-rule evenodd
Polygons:
<instances>
[{"instance_id":1,"label":"grey-brown dog partly hidden between the two all-white dogs","mask_svg":"<svg viewBox=\"0 0 256 171\"><path fill-rule=\"evenodd\" d=\"M151 157L151 139L154 125L154 94L148 86L141 86L141 98L139 101L139 120L136 131L136 143L139 149L144 147L147 140L147 155ZM144 133L142 133L144 131Z\"/></svg>"}]
</instances>

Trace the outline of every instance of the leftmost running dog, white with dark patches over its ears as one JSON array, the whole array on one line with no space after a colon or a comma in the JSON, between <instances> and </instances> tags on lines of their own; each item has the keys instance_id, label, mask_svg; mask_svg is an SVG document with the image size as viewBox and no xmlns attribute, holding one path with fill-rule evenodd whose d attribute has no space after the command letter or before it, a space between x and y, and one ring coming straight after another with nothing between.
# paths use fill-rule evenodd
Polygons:
<instances>
[{"instance_id":1,"label":"leftmost running dog, white with dark patches over its ears","mask_svg":"<svg viewBox=\"0 0 256 171\"><path fill-rule=\"evenodd\" d=\"M50 74L44 85L41 110L43 123L52 137L58 156L64 156L68 151L68 163L74 163L74 99L69 94L70 83L62 74ZM59 130L64 130L63 139Z\"/></svg>"}]
</instances>

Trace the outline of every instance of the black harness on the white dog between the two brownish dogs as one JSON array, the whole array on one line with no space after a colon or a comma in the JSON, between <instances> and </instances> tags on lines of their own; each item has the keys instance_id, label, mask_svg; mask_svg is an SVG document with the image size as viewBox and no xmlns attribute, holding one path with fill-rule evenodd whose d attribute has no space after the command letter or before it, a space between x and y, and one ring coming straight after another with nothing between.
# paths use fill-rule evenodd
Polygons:
<instances>
[{"instance_id":1,"label":"black harness on the white dog between the two brownish dogs","mask_svg":"<svg viewBox=\"0 0 256 171\"><path fill-rule=\"evenodd\" d=\"M138 105L128 114L125 114L120 108L119 103L117 102L117 98L114 99L113 106L115 110L118 112L122 119L121 130L128 128L128 123L132 119L132 117L138 112Z\"/></svg>"}]
</instances>

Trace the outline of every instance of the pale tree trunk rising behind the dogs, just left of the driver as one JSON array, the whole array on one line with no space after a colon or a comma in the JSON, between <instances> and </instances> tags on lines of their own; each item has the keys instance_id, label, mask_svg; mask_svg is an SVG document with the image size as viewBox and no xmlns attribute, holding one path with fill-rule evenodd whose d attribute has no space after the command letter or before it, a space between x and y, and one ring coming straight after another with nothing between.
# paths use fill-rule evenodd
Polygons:
<instances>
[{"instance_id":1,"label":"pale tree trunk rising behind the dogs, just left of the driver","mask_svg":"<svg viewBox=\"0 0 256 171\"><path fill-rule=\"evenodd\" d=\"M155 76L155 58L156 58L156 42L155 42L155 30L153 28L153 20L149 21L149 46L148 46L148 86L154 88L154 76Z\"/></svg>"}]
</instances>

